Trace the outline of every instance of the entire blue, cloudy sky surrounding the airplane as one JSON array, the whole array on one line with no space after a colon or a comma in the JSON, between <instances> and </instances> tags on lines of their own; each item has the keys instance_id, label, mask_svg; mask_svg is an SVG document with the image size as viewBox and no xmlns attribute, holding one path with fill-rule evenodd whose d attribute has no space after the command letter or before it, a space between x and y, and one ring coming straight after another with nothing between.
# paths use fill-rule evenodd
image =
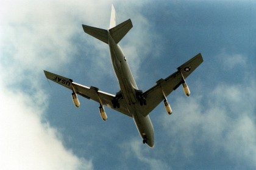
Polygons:
<instances>
[{"instance_id":1,"label":"entire blue, cloudy sky surrounding the airplane","mask_svg":"<svg viewBox=\"0 0 256 170\"><path fill-rule=\"evenodd\" d=\"M111 5L133 28L119 42L138 87L201 52L204 63L150 114L155 147L133 120L46 80L43 70L119 91L108 46ZM255 169L255 1L0 1L0 169Z\"/></svg>"}]
</instances>

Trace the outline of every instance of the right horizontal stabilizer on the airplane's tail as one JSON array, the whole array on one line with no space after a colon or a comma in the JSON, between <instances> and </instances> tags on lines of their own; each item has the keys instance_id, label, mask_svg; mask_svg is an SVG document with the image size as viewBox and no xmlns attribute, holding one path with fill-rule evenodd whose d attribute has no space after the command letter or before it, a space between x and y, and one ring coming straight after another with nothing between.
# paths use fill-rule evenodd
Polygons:
<instances>
[{"instance_id":1,"label":"right horizontal stabilizer on the airplane's tail","mask_svg":"<svg viewBox=\"0 0 256 170\"><path fill-rule=\"evenodd\" d=\"M109 32L116 44L118 44L118 42L124 38L130 29L132 29L132 21L128 19L127 21L124 21L121 24L116 25L116 27L110 29Z\"/></svg>"}]
</instances>

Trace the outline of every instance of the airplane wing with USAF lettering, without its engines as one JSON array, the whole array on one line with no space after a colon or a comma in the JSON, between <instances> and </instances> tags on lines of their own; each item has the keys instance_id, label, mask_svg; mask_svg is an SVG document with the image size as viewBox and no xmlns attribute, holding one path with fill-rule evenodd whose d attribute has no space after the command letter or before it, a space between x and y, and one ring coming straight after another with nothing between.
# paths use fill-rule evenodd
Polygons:
<instances>
[{"instance_id":1,"label":"airplane wing with USAF lettering, without its engines","mask_svg":"<svg viewBox=\"0 0 256 170\"><path fill-rule=\"evenodd\" d=\"M129 113L129 110L126 107L126 103L124 99L118 100L120 104L119 108L113 108L112 99L115 98L115 95L102 92L97 87L92 87L92 86L87 87L87 86L83 86L82 84L74 83L73 80L69 78L62 77L60 75L48 72L46 70L44 70L44 74L46 75L46 78L48 78L51 81L54 81L55 83L58 83L64 87L67 87L70 90L73 90L74 88L76 93L82 97L94 100L98 103L100 98L102 101L102 104L104 104L105 106L110 107L111 109L114 109L118 112L121 112L129 117L132 117L132 115Z\"/></svg>"}]
</instances>

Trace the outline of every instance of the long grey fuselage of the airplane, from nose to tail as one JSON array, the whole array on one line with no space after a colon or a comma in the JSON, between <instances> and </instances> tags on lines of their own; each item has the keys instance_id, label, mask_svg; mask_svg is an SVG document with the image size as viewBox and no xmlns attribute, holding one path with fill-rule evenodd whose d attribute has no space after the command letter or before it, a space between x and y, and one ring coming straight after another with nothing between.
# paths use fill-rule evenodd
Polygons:
<instances>
[{"instance_id":1,"label":"long grey fuselage of the airplane, from nose to tail","mask_svg":"<svg viewBox=\"0 0 256 170\"><path fill-rule=\"evenodd\" d=\"M126 101L127 109L137 126L143 140L151 147L154 146L154 128L149 115L144 117L140 100L138 98L138 86L133 78L126 57L118 44L108 32L108 46L112 60L113 69L118 79L121 95Z\"/></svg>"}]
</instances>

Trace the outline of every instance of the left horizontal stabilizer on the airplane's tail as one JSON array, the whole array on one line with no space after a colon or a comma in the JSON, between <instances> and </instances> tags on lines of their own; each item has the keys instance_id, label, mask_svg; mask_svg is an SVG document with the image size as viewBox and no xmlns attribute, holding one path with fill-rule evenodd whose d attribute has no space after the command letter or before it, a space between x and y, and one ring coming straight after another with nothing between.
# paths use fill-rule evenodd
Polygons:
<instances>
[{"instance_id":1,"label":"left horizontal stabilizer on the airplane's tail","mask_svg":"<svg viewBox=\"0 0 256 170\"><path fill-rule=\"evenodd\" d=\"M98 29L96 27L91 27L88 25L82 25L82 26L85 33L88 33L88 35L94 36L95 38L108 44L107 30Z\"/></svg>"}]
</instances>

